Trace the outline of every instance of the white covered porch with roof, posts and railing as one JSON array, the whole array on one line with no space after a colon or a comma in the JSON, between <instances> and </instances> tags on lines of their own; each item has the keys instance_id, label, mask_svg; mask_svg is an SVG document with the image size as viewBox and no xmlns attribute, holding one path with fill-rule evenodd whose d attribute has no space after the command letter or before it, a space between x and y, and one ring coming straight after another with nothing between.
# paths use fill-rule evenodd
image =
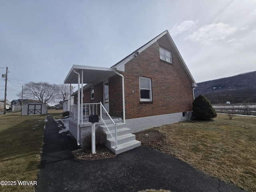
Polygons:
<instances>
[{"instance_id":1,"label":"white covered porch with roof, posts and railing","mask_svg":"<svg viewBox=\"0 0 256 192\"><path fill-rule=\"evenodd\" d=\"M111 117L108 113L107 103L102 101L95 103L83 103L84 88L89 88L90 86L108 82L108 78L118 74L122 77L122 93L123 93L123 119ZM125 124L125 113L124 113L124 80L122 74L116 72L115 68L99 68L92 66L80 66L73 65L70 69L70 72L64 80L64 84L77 84L77 103L70 105L70 118L69 118L69 127L72 129L70 133L76 138L77 145L80 146L82 142L82 134L84 131L88 131L88 127L92 124L88 122L90 115L98 115L99 122L97 123L98 127L103 127L105 132L110 135L110 140L114 142L110 147L117 149L118 148L118 139L117 139L117 122ZM84 86L85 84L85 86ZM75 102L75 101L74 101ZM102 128L103 129L103 128Z\"/></svg>"}]
</instances>

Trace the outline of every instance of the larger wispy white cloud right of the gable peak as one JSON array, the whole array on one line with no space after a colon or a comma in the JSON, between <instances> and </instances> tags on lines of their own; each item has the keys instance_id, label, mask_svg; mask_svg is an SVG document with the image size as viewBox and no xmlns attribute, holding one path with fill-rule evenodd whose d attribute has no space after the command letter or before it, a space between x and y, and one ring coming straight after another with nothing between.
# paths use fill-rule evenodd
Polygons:
<instances>
[{"instance_id":1,"label":"larger wispy white cloud right of the gable peak","mask_svg":"<svg viewBox=\"0 0 256 192\"><path fill-rule=\"evenodd\" d=\"M212 44L216 40L222 40L232 34L236 27L231 27L229 24L222 22L217 24L209 24L200 27L198 30L188 35L185 40L191 42L199 42L200 44Z\"/></svg>"}]
</instances>

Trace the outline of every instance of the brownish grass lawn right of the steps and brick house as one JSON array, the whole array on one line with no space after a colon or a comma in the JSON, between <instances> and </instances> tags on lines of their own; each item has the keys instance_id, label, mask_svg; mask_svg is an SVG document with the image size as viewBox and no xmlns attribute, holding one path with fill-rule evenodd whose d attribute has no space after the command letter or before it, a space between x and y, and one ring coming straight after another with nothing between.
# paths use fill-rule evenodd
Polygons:
<instances>
[{"instance_id":1,"label":"brownish grass lawn right of the steps and brick house","mask_svg":"<svg viewBox=\"0 0 256 192\"><path fill-rule=\"evenodd\" d=\"M136 133L136 139L202 172L256 192L256 117L218 114Z\"/></svg>"}]
</instances>

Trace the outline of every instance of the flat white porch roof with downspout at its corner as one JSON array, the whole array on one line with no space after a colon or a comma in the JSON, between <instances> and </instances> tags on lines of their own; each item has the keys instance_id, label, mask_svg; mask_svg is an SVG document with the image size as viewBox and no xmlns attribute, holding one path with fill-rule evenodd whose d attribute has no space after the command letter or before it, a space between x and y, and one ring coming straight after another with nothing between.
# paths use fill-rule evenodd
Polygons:
<instances>
[{"instance_id":1,"label":"flat white porch roof with downspout at its corner","mask_svg":"<svg viewBox=\"0 0 256 192\"><path fill-rule=\"evenodd\" d=\"M107 81L109 77L115 75L114 70L112 68L73 65L64 80L64 84L79 83L77 78L78 75L74 72L74 70L80 74L80 79L83 80L80 83L83 82L85 84L92 84L98 81ZM82 71L83 71L83 79L82 79Z\"/></svg>"}]
</instances>

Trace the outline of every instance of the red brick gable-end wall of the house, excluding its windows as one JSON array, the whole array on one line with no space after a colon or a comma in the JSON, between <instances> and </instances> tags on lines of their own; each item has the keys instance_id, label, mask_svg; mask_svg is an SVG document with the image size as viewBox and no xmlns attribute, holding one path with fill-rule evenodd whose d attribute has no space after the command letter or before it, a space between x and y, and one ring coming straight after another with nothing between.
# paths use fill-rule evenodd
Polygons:
<instances>
[{"instance_id":1,"label":"red brick gable-end wall of the house, excluding its windows","mask_svg":"<svg viewBox=\"0 0 256 192\"><path fill-rule=\"evenodd\" d=\"M172 64L160 60L159 46L172 52ZM192 110L192 82L165 36L126 63L122 74L126 119ZM151 78L152 102L140 102L140 76ZM119 76L109 80L110 113L113 116L122 114L121 80Z\"/></svg>"}]
</instances>

